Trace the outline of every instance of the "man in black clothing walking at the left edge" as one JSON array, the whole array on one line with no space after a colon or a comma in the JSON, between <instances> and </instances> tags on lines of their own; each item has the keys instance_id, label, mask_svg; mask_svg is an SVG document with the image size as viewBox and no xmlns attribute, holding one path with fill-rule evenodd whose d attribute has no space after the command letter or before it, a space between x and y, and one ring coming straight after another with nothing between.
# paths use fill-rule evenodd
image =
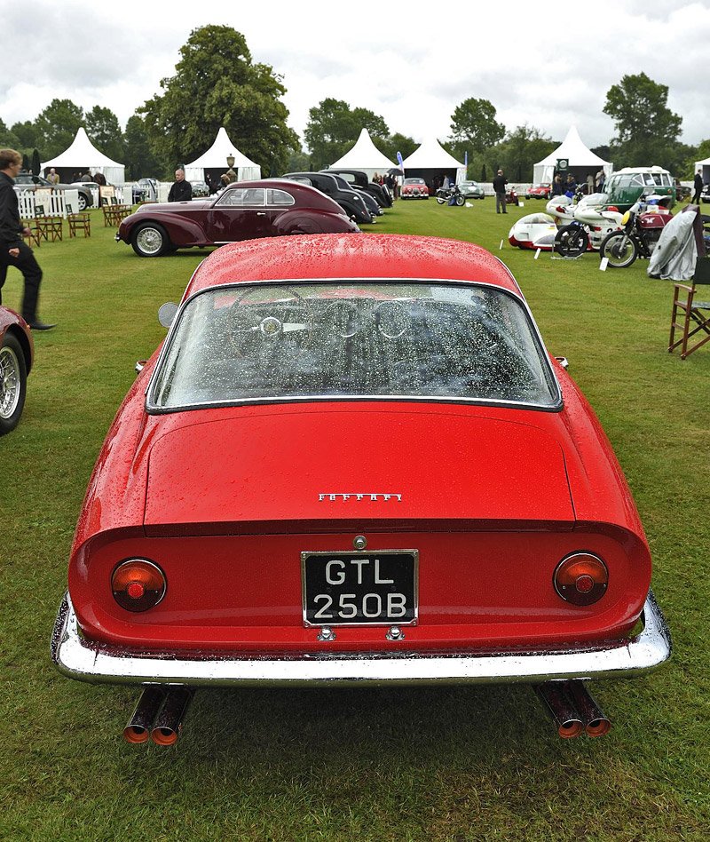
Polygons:
<instances>
[{"instance_id":1,"label":"man in black clothing walking at the left edge","mask_svg":"<svg viewBox=\"0 0 710 842\"><path fill-rule=\"evenodd\" d=\"M44 324L37 318L42 269L32 249L22 240L23 232L29 233L29 229L23 228L20 223L17 194L13 188L21 165L22 157L19 152L15 152L14 149L0 149L0 303L7 268L15 266L20 269L25 279L22 318L35 330L50 330L55 325Z\"/></svg>"}]
</instances>

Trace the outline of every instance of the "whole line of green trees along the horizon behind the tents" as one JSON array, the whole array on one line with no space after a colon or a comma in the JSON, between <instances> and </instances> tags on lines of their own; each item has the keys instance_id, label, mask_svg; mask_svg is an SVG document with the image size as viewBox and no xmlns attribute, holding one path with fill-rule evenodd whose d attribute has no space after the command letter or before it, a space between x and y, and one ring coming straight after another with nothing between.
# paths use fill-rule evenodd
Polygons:
<instances>
[{"instance_id":1,"label":"whole line of green trees along the horizon behind the tents","mask_svg":"<svg viewBox=\"0 0 710 842\"><path fill-rule=\"evenodd\" d=\"M162 79L161 92L136 109L125 130L108 107L84 112L71 99L52 99L35 120L8 127L0 118L0 147L18 149L36 167L63 152L83 125L101 152L126 164L130 179L170 178L177 165L205 152L223 125L241 152L269 175L326 167L351 148L363 128L391 161L417 147L414 139L390 132L383 116L333 98L310 109L302 146L286 123L283 77L255 62L245 37L231 27L194 29L179 52L175 75ZM692 178L694 162L710 155L710 139L698 147L683 144L682 117L667 106L667 98L667 85L644 73L623 76L607 91L604 105L616 135L592 151L616 169L659 164L678 178ZM509 179L532 181L533 164L560 141L527 124L507 129L496 116L488 99L465 99L455 107L451 134L442 145L458 160L467 158L470 179L488 181L503 167Z\"/></svg>"}]
</instances>

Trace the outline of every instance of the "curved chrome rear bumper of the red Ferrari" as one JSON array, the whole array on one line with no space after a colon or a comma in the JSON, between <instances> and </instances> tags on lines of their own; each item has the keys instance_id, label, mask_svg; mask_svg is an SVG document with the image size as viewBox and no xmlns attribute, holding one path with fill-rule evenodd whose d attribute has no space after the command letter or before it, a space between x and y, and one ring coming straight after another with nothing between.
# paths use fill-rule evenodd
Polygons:
<instances>
[{"instance_id":1,"label":"curved chrome rear bumper of the red Ferrari","mask_svg":"<svg viewBox=\"0 0 710 842\"><path fill-rule=\"evenodd\" d=\"M59 607L51 638L51 658L71 679L112 684L200 686L486 684L555 679L607 679L652 670L671 655L671 638L658 603L649 591L643 631L605 647L562 650L412 655L300 655L264 658L199 655L158 656L83 639L68 595Z\"/></svg>"}]
</instances>

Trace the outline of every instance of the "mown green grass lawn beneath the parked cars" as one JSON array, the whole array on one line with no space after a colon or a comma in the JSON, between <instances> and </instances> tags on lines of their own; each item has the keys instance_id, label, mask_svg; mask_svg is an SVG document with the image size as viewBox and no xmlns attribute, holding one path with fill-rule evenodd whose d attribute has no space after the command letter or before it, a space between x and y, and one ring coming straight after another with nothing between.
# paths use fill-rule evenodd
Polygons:
<instances>
[{"instance_id":1,"label":"mown green grass lawn beneath the parked cars","mask_svg":"<svg viewBox=\"0 0 710 842\"><path fill-rule=\"evenodd\" d=\"M600 740L559 740L525 686L201 691L172 749L131 746L138 691L62 678L49 638L106 428L207 252L140 259L98 211L43 244L36 368L0 440L0 839L706 840L710 835L710 346L668 354L672 285L646 262L512 249L496 216L398 202L367 230L477 242L516 275L627 473L674 636L661 671L604 682ZM503 246L500 248L501 239ZM4 303L19 309L11 273Z\"/></svg>"}]
</instances>

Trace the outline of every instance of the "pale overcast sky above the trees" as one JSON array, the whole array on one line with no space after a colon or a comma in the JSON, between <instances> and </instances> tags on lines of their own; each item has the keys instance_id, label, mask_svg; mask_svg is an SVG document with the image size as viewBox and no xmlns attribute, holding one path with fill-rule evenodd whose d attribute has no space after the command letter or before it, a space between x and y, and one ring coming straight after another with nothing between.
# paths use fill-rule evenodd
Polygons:
<instances>
[{"instance_id":1,"label":"pale overcast sky above the trees","mask_svg":"<svg viewBox=\"0 0 710 842\"><path fill-rule=\"evenodd\" d=\"M326 97L382 115L421 141L451 132L454 108L490 99L507 128L590 147L613 136L606 91L641 71L667 84L682 139L710 138L710 0L24 0L5 3L0 118L33 120L51 99L110 107L122 126L173 75L191 30L232 26L288 89L303 135ZM206 141L206 145L212 139Z\"/></svg>"}]
</instances>

